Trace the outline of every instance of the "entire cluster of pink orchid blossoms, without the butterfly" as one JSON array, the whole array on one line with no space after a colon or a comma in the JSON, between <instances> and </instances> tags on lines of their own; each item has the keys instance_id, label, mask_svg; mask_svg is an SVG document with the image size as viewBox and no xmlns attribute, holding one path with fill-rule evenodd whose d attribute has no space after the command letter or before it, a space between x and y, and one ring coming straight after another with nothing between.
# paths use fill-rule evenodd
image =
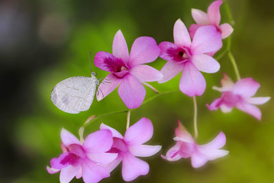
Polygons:
<instances>
[{"instance_id":1,"label":"entire cluster of pink orchid blossoms, without the butterfly","mask_svg":"<svg viewBox=\"0 0 274 183\"><path fill-rule=\"evenodd\" d=\"M219 8L222 3L221 0L212 2L207 13L192 9L192 17L196 24L190 25L189 29L181 19L178 19L173 27L174 43L164 41L158 45L153 38L142 36L136 38L129 53L121 30L116 32L112 54L99 51L95 55L95 66L109 72L104 82L99 85L101 92L97 93L97 100L101 101L118 87L119 96L129 109L127 110L127 131L122 136L114 128L101 123L100 130L89 134L85 140L79 133L83 140L79 141L73 134L62 129L63 153L51 160L51 167L47 167L47 171L49 173L60 171L60 182L62 183L70 182L74 177L83 178L84 182L99 182L103 178L110 177L110 172L122 162L123 180L132 181L140 175L147 175L149 164L136 156L153 156L160 151L161 146L143 144L152 137L153 125L149 119L142 118L128 127L130 111L142 105L146 95L143 85L158 93L158 90L147 82L162 84L181 72L179 90L188 97L193 97L194 101L195 138L192 138L182 123L178 121L175 138L173 138L176 143L162 158L169 161L191 158L192 167L198 168L209 160L227 155L228 151L221 149L226 142L223 132L220 132L206 145L196 143L197 103L195 96L203 95L206 90L206 80L201 72L216 73L219 71L220 64L213 58L214 53L223 47L223 39L234 31L228 23L220 25ZM160 71L147 65L158 57L167 61ZM234 60L232 61L234 63ZM222 87L213 87L222 95L207 107L209 110L221 108L223 112L230 112L236 107L260 120L260 109L254 105L266 103L270 97L253 97L260 84L251 77L240 79L238 69L235 70L238 81L234 84L224 73L221 80ZM113 112L113 114L116 113L118 112ZM82 126L83 131L84 127L86 123Z\"/></svg>"}]
</instances>

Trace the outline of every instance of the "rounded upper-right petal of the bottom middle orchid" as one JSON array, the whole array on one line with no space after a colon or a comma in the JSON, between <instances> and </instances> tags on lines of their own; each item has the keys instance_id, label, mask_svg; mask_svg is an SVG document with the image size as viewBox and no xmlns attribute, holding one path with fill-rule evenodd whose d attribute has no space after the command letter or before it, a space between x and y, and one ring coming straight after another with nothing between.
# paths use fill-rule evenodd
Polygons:
<instances>
[{"instance_id":1,"label":"rounded upper-right petal of the bottom middle orchid","mask_svg":"<svg viewBox=\"0 0 274 183\"><path fill-rule=\"evenodd\" d=\"M142 118L125 132L124 141L127 145L140 145L149 141L153 135L153 125L147 118Z\"/></svg>"}]
</instances>

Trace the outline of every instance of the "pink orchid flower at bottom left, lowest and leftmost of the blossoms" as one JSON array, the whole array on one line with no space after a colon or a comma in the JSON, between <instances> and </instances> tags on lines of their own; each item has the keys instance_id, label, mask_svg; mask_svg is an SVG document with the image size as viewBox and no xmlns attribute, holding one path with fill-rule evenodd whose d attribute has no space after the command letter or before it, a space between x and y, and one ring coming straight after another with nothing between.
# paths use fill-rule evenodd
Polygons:
<instances>
[{"instance_id":1,"label":"pink orchid flower at bottom left, lowest and leftmost of the blossoms","mask_svg":"<svg viewBox=\"0 0 274 183\"><path fill-rule=\"evenodd\" d=\"M51 160L49 173L60 171L60 182L70 182L75 176L84 182L99 182L110 177L110 171L102 164L108 164L116 159L118 154L105 153L112 147L110 130L99 130L89 134L81 143L73 134L64 128L61 131L61 148L63 154Z\"/></svg>"}]
</instances>

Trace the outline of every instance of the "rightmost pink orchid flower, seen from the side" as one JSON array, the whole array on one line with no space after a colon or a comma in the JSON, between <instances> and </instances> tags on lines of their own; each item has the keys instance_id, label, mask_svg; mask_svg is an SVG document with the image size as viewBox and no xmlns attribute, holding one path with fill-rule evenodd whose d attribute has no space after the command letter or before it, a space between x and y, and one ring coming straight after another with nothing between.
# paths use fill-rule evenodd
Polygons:
<instances>
[{"instance_id":1,"label":"rightmost pink orchid flower, seen from the side","mask_svg":"<svg viewBox=\"0 0 274 183\"><path fill-rule=\"evenodd\" d=\"M253 105L266 103L271 97L253 97L258 88L260 88L258 82L251 77L247 77L238 80L238 82L234 84L234 82L223 73L221 86L221 88L216 86L213 87L214 90L218 90L223 94L221 95L221 98L215 99L210 105L207 105L209 110L221 108L223 112L230 112L232 111L232 108L236 107L238 110L251 114L258 120L261 119L262 113L260 109Z\"/></svg>"}]
</instances>

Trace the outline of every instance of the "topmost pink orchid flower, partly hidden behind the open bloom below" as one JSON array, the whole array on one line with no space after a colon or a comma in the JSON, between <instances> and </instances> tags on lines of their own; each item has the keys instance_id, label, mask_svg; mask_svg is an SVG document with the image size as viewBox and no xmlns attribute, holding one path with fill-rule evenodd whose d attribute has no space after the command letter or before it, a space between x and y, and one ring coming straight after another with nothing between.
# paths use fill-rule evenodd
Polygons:
<instances>
[{"instance_id":1,"label":"topmost pink orchid flower, partly hidden behind the open bloom below","mask_svg":"<svg viewBox=\"0 0 274 183\"><path fill-rule=\"evenodd\" d=\"M197 24L192 24L189 27L191 38L193 38L197 29L204 25L214 25L223 39L232 34L233 28L231 25L229 25L228 23L223 23L222 25L219 25L221 21L220 5L222 3L223 1L221 0L213 1L208 7L208 14L201 10L192 8L191 14Z\"/></svg>"}]
</instances>

